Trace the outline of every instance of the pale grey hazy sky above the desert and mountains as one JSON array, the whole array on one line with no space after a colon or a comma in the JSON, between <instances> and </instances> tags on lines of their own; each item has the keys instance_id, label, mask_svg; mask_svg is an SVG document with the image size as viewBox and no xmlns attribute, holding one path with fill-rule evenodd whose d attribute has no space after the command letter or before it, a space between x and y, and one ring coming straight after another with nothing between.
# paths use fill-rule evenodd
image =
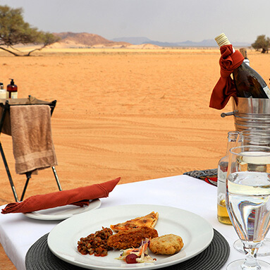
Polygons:
<instances>
[{"instance_id":1,"label":"pale grey hazy sky above the desert and mountains","mask_svg":"<svg viewBox=\"0 0 270 270\"><path fill-rule=\"evenodd\" d=\"M270 0L0 0L0 5L23 8L25 22L45 32L159 42L200 42L221 32L232 43L270 37Z\"/></svg>"}]
</instances>

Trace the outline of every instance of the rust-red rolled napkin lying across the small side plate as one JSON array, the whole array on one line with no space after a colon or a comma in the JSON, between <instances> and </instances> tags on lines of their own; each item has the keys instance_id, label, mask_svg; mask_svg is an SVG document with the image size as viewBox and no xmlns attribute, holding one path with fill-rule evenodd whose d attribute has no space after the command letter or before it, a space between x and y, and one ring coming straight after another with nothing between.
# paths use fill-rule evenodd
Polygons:
<instances>
[{"instance_id":1,"label":"rust-red rolled napkin lying across the small side plate","mask_svg":"<svg viewBox=\"0 0 270 270\"><path fill-rule=\"evenodd\" d=\"M66 204L75 204L82 207L83 205L89 204L89 200L108 197L109 192L113 190L120 179L121 178L118 177L101 184L28 197L23 202L7 204L6 207L2 209L1 214L28 213L42 209L62 207Z\"/></svg>"}]
</instances>

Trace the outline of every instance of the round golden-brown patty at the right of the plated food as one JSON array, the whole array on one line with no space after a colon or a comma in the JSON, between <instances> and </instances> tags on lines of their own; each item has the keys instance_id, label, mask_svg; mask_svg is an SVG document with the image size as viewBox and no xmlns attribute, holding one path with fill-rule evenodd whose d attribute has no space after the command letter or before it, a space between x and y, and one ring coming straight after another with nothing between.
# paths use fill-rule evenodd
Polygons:
<instances>
[{"instance_id":1,"label":"round golden-brown patty at the right of the plated food","mask_svg":"<svg viewBox=\"0 0 270 270\"><path fill-rule=\"evenodd\" d=\"M150 240L149 250L154 254L172 255L179 252L184 246L178 235L167 234Z\"/></svg>"}]
</instances>

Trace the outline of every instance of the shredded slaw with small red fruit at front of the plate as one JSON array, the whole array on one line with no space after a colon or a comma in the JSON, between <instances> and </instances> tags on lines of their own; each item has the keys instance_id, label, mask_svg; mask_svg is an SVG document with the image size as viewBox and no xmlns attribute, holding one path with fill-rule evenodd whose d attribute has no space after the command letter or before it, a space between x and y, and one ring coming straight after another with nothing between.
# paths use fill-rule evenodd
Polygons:
<instances>
[{"instance_id":1,"label":"shredded slaw with small red fruit at front of the plate","mask_svg":"<svg viewBox=\"0 0 270 270\"><path fill-rule=\"evenodd\" d=\"M127 250L121 250L120 257L116 259L122 259L127 264L137 264L137 262L154 262L157 259L152 259L148 254L149 239L146 238L142 241L138 248L128 248Z\"/></svg>"}]
</instances>

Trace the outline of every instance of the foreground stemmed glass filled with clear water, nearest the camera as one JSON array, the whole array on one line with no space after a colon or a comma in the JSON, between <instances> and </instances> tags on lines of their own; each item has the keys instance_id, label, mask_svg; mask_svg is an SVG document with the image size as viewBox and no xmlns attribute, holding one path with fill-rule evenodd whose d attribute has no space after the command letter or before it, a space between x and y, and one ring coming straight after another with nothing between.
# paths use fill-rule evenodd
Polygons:
<instances>
[{"instance_id":1,"label":"foreground stemmed glass filled with clear water, nearest the camera","mask_svg":"<svg viewBox=\"0 0 270 270\"><path fill-rule=\"evenodd\" d=\"M226 207L246 254L245 259L228 264L227 270L270 269L270 264L257 260L270 228L270 147L230 149Z\"/></svg>"}]
</instances>

